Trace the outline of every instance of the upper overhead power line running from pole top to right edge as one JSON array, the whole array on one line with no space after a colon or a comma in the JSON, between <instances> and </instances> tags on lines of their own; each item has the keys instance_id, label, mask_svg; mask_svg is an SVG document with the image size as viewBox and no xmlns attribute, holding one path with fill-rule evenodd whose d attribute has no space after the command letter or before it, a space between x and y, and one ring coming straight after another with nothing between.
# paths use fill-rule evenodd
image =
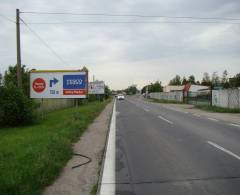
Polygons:
<instances>
[{"instance_id":1,"label":"upper overhead power line running from pole top to right edge","mask_svg":"<svg viewBox=\"0 0 240 195\"><path fill-rule=\"evenodd\" d=\"M71 12L21 12L24 14L46 15L79 15L79 16L112 16L112 17L140 17L140 18L172 18L172 19L195 19L195 20L240 20L240 18L225 17L195 17L195 16L165 16L165 15L141 15L141 14L108 14L108 13L71 13Z\"/></svg>"}]
</instances>

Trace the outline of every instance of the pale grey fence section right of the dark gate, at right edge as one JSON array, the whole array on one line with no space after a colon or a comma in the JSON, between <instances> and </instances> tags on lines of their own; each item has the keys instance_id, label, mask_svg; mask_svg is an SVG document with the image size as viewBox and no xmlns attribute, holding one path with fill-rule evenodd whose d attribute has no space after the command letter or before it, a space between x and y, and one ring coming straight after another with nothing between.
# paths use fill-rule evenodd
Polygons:
<instances>
[{"instance_id":1,"label":"pale grey fence section right of the dark gate, at right edge","mask_svg":"<svg viewBox=\"0 0 240 195\"><path fill-rule=\"evenodd\" d=\"M213 90L212 105L224 108L240 108L240 89Z\"/></svg>"}]
</instances>

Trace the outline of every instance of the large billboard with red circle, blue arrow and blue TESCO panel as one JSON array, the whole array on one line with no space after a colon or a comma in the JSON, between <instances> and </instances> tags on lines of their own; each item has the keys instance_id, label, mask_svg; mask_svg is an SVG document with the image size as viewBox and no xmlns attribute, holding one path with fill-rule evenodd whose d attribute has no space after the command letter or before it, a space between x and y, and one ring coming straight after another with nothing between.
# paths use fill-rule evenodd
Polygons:
<instances>
[{"instance_id":1,"label":"large billboard with red circle, blue arrow and blue TESCO panel","mask_svg":"<svg viewBox=\"0 0 240 195\"><path fill-rule=\"evenodd\" d=\"M86 98L87 72L77 71L31 71L31 98Z\"/></svg>"}]
</instances>

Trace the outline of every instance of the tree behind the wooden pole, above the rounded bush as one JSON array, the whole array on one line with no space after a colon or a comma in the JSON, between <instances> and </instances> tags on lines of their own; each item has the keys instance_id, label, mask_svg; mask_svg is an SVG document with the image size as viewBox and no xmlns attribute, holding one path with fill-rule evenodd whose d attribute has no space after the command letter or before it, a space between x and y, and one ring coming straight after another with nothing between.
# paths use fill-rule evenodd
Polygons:
<instances>
[{"instance_id":1,"label":"tree behind the wooden pole, above the rounded bush","mask_svg":"<svg viewBox=\"0 0 240 195\"><path fill-rule=\"evenodd\" d=\"M29 97L30 96L30 74L29 70L26 69L26 66L23 65L21 68L22 73L22 88L23 93ZM13 84L17 86L17 66L9 66L8 70L5 72L4 75L4 85Z\"/></svg>"}]
</instances>

